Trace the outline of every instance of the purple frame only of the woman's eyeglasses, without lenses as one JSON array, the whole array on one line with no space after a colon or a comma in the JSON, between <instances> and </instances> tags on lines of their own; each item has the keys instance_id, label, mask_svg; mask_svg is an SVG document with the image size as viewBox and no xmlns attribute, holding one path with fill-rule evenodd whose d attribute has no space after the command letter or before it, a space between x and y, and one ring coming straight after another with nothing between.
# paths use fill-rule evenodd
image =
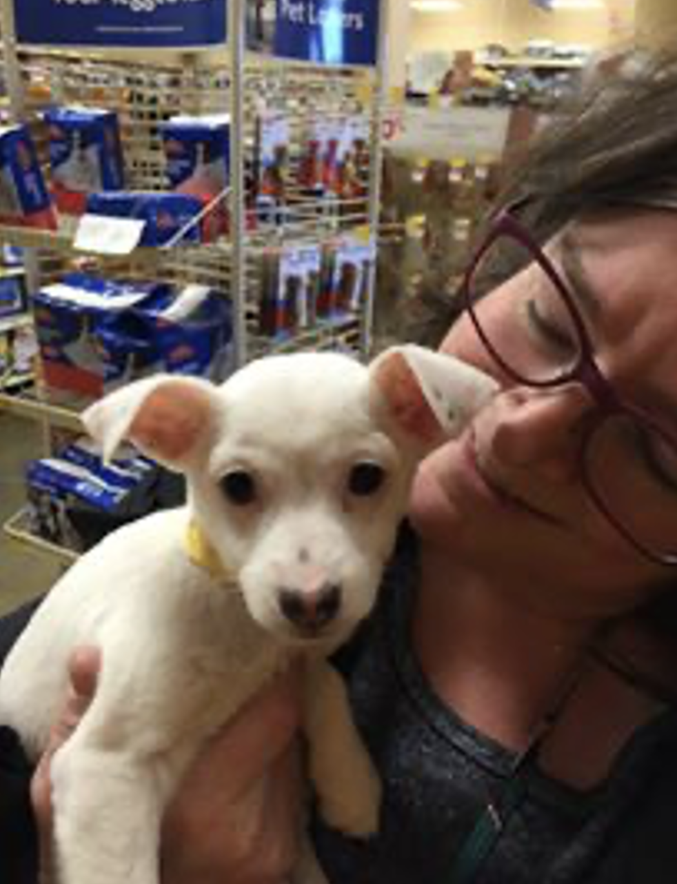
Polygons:
<instances>
[{"instance_id":1,"label":"purple frame only of the woman's eyeglasses, without lenses","mask_svg":"<svg viewBox=\"0 0 677 884\"><path fill-rule=\"evenodd\" d=\"M567 284L559 276L559 272L555 270L550 259L544 254L543 249L538 243L536 243L536 240L533 239L529 231L521 225L515 217L513 217L513 212L520 209L525 202L526 201L521 200L520 202L515 202L512 205L507 206L506 209L499 211L491 221L490 229L487 232L482 245L477 249L475 255L468 264L468 268L465 271L460 284L460 297L463 302L463 307L468 313L477 336L482 341L483 347L486 349L487 353L490 354L491 358L498 364L498 367L506 374L506 376L510 377L516 384L536 389L552 389L574 382L581 385L588 392L590 400L592 400L595 406L595 410L591 413L590 420L582 428L581 444L578 450L578 470L582 477L582 484L585 491L588 493L599 512L604 515L607 522L609 522L620 536L624 537L628 544L633 546L637 552L640 552L645 558L658 565L663 565L668 568L677 567L677 552L662 553L650 549L650 547L637 540L632 531L628 530L623 522L620 522L612 511L609 510L605 504L605 500L595 488L595 483L590 477L590 468L588 464L590 440L605 423L607 418L612 415L628 415L635 421L635 423L645 427L652 433L656 433L666 445L671 446L675 450L676 454L677 437L664 430L660 424L656 423L656 421L654 421L650 415L647 415L641 408L637 408L632 403L624 400L623 397L616 392L611 381L605 377L603 371L597 365L590 336L586 331L579 309L576 307L574 297L569 292ZM533 260L540 265L545 275L550 279L552 285L555 286L561 295L562 301L564 301L569 316L571 317L571 321L574 324L574 328L579 338L580 353L571 369L563 371L559 377L553 377L544 381L534 381L528 377L523 377L518 371L513 370L513 368L505 362L503 357L493 347L491 340L488 339L484 333L482 325L475 315L475 306L471 296L473 278L484 255L486 255L496 240L501 236L508 236L513 240L516 240L522 248L526 249Z\"/></svg>"}]
</instances>

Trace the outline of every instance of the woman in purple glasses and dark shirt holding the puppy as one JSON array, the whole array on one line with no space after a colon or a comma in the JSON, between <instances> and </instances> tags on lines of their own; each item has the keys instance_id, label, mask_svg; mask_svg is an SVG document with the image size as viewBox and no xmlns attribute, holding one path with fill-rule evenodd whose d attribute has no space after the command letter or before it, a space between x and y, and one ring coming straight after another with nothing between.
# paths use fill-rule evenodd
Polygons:
<instances>
[{"instance_id":1,"label":"woman in purple glasses and dark shirt holding the puppy","mask_svg":"<svg viewBox=\"0 0 677 884\"><path fill-rule=\"evenodd\" d=\"M674 877L677 60L587 96L508 197L442 344L503 392L423 464L413 531L338 658L385 799L371 842L316 821L335 884ZM283 880L289 691L186 780L164 880ZM265 752L262 727L278 733Z\"/></svg>"}]
</instances>

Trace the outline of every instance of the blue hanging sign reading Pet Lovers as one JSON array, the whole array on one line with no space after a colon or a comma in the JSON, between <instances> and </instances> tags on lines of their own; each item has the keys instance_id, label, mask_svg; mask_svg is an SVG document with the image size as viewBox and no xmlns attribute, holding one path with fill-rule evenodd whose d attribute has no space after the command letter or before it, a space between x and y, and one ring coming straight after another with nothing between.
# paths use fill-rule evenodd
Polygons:
<instances>
[{"instance_id":1,"label":"blue hanging sign reading Pet Lovers","mask_svg":"<svg viewBox=\"0 0 677 884\"><path fill-rule=\"evenodd\" d=\"M277 0L275 54L321 65L376 65L378 0Z\"/></svg>"}]
</instances>

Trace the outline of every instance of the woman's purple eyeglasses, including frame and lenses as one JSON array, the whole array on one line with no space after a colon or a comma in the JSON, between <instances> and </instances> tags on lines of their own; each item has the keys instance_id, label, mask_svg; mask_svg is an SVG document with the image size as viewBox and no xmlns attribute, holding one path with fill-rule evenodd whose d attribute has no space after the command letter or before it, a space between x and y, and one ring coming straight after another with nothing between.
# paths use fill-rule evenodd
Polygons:
<instances>
[{"instance_id":1,"label":"woman's purple eyeglasses, including frame and lenses","mask_svg":"<svg viewBox=\"0 0 677 884\"><path fill-rule=\"evenodd\" d=\"M594 309L567 234L553 240L570 287L513 217L499 214L468 267L461 298L483 346L514 383L538 389L582 385L594 403L580 431L582 483L599 512L628 543L661 565L677 565L677 438L617 393L595 360L582 300ZM495 263L520 266L506 288L513 324L483 317L483 278Z\"/></svg>"}]
</instances>

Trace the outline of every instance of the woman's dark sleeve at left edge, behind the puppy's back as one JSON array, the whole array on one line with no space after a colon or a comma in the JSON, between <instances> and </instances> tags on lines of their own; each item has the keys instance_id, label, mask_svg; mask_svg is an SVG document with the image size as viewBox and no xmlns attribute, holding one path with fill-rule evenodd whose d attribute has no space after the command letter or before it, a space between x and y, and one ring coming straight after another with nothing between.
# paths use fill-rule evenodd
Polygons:
<instances>
[{"instance_id":1,"label":"woman's dark sleeve at left edge, behind the puppy's back","mask_svg":"<svg viewBox=\"0 0 677 884\"><path fill-rule=\"evenodd\" d=\"M0 668L40 599L0 618ZM37 833L30 802L32 767L17 735L0 726L0 880L36 884Z\"/></svg>"}]
</instances>

